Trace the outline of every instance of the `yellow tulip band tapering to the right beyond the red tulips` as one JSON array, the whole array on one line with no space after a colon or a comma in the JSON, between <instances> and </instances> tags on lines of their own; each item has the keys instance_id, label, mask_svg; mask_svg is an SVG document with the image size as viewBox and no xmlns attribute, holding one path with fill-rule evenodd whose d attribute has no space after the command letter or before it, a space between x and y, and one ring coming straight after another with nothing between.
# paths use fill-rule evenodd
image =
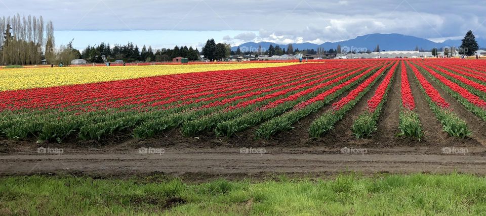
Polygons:
<instances>
[{"instance_id":1,"label":"yellow tulip band tapering to the right beyond the red tulips","mask_svg":"<svg viewBox=\"0 0 486 216\"><path fill-rule=\"evenodd\" d=\"M293 64L296 63L0 69L0 91L95 83L217 70L279 67Z\"/></svg>"}]
</instances>

